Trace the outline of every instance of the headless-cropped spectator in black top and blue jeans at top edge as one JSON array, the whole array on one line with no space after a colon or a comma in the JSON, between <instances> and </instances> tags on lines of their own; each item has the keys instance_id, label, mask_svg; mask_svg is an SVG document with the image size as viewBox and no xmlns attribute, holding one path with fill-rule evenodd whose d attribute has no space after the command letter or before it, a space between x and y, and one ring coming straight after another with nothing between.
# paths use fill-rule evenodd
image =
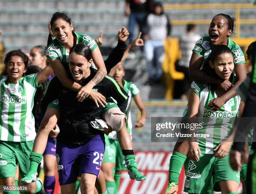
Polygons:
<instances>
[{"instance_id":1,"label":"headless-cropped spectator in black top and blue jeans at top edge","mask_svg":"<svg viewBox=\"0 0 256 194\"><path fill-rule=\"evenodd\" d=\"M125 15L129 16L128 31L130 32L129 42L133 42L133 31L138 24L139 32L144 35L145 19L152 10L153 0L126 0Z\"/></svg>"}]
</instances>

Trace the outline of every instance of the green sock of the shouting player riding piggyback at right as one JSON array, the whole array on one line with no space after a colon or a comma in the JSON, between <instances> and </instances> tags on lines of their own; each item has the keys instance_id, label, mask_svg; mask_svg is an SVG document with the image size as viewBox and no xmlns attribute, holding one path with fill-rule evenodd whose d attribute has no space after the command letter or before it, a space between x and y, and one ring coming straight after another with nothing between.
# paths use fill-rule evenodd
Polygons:
<instances>
[{"instance_id":1,"label":"green sock of the shouting player riding piggyback at right","mask_svg":"<svg viewBox=\"0 0 256 194\"><path fill-rule=\"evenodd\" d=\"M179 152L172 153L169 165L169 183L174 182L175 184L178 184L179 174L186 159L187 156L184 154Z\"/></svg>"}]
</instances>

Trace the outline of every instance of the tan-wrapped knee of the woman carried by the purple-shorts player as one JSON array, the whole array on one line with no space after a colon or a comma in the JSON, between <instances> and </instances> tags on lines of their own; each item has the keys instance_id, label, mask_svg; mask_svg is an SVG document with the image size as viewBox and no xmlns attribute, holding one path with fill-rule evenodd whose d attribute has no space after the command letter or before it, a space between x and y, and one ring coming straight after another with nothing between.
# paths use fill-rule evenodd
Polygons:
<instances>
[{"instance_id":1,"label":"tan-wrapped knee of the woman carried by the purple-shorts player","mask_svg":"<svg viewBox=\"0 0 256 194\"><path fill-rule=\"evenodd\" d=\"M104 119L115 132L119 132L125 125L126 115L119 108L111 108L105 113Z\"/></svg>"}]
</instances>

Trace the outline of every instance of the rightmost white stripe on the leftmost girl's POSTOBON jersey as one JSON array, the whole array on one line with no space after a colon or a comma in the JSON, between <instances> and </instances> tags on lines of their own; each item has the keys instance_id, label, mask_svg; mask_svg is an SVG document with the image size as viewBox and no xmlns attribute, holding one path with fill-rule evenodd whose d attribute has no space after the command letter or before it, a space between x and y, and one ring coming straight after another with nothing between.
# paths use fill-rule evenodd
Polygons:
<instances>
[{"instance_id":1,"label":"rightmost white stripe on the leftmost girl's POSTOBON jersey","mask_svg":"<svg viewBox=\"0 0 256 194\"><path fill-rule=\"evenodd\" d=\"M24 81L24 86L26 88L26 95L27 95L27 112L26 112L26 119L25 119L25 134L26 141L34 140L36 137L35 131L35 119L32 118L32 108L33 108L33 94L36 90L30 83Z\"/></svg>"}]
</instances>

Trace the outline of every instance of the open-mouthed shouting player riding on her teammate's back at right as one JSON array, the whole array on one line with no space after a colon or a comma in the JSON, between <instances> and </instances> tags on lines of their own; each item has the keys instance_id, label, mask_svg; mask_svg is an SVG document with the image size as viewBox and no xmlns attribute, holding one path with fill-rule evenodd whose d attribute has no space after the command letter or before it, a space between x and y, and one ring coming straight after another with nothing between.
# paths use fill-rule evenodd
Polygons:
<instances>
[{"instance_id":1,"label":"open-mouthed shouting player riding on her teammate's back at right","mask_svg":"<svg viewBox=\"0 0 256 194\"><path fill-rule=\"evenodd\" d=\"M229 15L220 13L212 18L209 26L209 36L202 37L195 44L193 54L189 64L189 76L192 80L201 83L221 83L223 89L227 92L221 97L216 97L210 102L210 106L213 110L217 111L223 104L236 95L236 88L238 85L246 79L246 67L245 58L241 48L232 40L230 35L233 33L235 25L235 18ZM213 77L208 75L207 72L203 72L201 67L205 65L209 66L208 62L211 56L212 49L217 45L227 45L232 51L234 58L234 71L236 72L237 82L232 83L228 80L223 80L220 77ZM231 89L230 89L231 87ZM230 90L229 90L230 89ZM186 112L186 111L185 111ZM178 190L178 179L180 170L182 169L183 162L187 158L188 145L184 142L177 142L175 144L172 157L170 159L169 167L169 184L166 189L166 193L172 193L173 189L177 192ZM175 193L174 193L175 194Z\"/></svg>"}]
</instances>

